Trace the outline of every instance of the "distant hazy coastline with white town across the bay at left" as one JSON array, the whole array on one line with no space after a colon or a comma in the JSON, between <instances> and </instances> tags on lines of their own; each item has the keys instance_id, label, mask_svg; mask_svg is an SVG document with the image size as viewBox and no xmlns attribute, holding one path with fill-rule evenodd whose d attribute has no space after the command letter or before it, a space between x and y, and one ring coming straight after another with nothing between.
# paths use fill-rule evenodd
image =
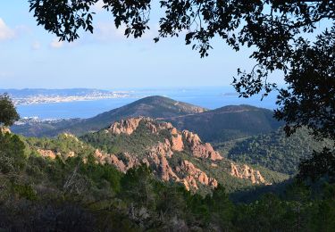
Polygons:
<instances>
[{"instance_id":1,"label":"distant hazy coastline with white town across the bay at left","mask_svg":"<svg viewBox=\"0 0 335 232\"><path fill-rule=\"evenodd\" d=\"M71 89L0 89L0 93L7 93L15 105L53 104L76 101L93 101L130 97L130 91L109 91L90 88Z\"/></svg>"}]
</instances>

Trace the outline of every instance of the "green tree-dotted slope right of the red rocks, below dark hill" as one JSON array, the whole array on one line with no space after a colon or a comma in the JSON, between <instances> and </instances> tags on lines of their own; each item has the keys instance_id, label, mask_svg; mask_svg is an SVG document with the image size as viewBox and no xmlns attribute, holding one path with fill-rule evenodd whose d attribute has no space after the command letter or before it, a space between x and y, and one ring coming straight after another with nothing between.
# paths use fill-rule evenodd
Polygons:
<instances>
[{"instance_id":1,"label":"green tree-dotted slope right of the red rocks, below dark hill","mask_svg":"<svg viewBox=\"0 0 335 232\"><path fill-rule=\"evenodd\" d=\"M235 162L247 162L270 170L293 175L301 160L310 157L313 151L331 146L329 140L317 141L302 128L291 137L286 137L280 128L269 134L231 141L215 147Z\"/></svg>"}]
</instances>

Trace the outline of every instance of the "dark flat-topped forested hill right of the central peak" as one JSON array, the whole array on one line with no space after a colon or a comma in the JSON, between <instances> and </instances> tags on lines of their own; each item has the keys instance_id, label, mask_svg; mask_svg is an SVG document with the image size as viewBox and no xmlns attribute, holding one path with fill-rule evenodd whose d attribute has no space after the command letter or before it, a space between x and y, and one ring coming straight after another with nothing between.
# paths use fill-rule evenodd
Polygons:
<instances>
[{"instance_id":1,"label":"dark flat-topped forested hill right of the central peak","mask_svg":"<svg viewBox=\"0 0 335 232\"><path fill-rule=\"evenodd\" d=\"M227 141L268 133L283 125L273 112L251 105L228 105L213 111L164 119L196 132L206 142Z\"/></svg>"}]
</instances>

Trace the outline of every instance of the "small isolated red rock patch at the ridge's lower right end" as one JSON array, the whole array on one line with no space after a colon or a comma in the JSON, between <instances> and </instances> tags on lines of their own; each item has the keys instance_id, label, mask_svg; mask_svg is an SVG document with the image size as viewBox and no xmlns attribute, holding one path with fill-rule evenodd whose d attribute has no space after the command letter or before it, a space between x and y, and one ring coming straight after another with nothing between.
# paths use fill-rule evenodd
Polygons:
<instances>
[{"instance_id":1,"label":"small isolated red rock patch at the ridge's lower right end","mask_svg":"<svg viewBox=\"0 0 335 232\"><path fill-rule=\"evenodd\" d=\"M249 179L253 184L271 185L271 183L266 182L266 180L261 175L259 170L254 170L249 166L247 166L247 164L244 164L241 167L239 167L239 165L231 162L230 175L236 178Z\"/></svg>"}]
</instances>

